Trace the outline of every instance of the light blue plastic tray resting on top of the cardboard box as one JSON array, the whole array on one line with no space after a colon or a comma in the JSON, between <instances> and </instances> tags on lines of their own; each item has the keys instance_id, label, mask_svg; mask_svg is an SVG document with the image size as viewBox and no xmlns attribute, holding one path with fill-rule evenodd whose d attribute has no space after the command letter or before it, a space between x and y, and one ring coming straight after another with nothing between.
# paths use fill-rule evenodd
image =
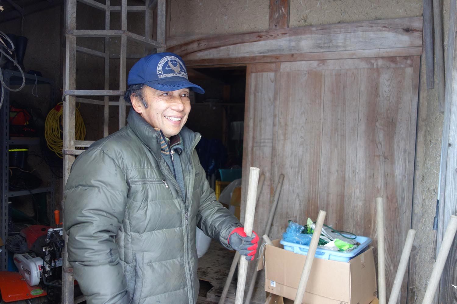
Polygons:
<instances>
[{"instance_id":1,"label":"light blue plastic tray resting on top of the cardboard box","mask_svg":"<svg viewBox=\"0 0 457 304\"><path fill-rule=\"evenodd\" d=\"M350 235L346 235L347 237L351 237ZM322 258L324 260L333 260L333 261L340 261L340 262L348 262L351 258L354 258L361 254L362 252L368 249L368 245L372 242L372 239L369 237L356 237L356 241L360 243L359 247L352 250L351 252L340 252L335 250L329 250L324 248L317 248L316 254L314 257ZM279 241L284 249L288 251L292 251L298 254L308 254L308 245L300 245L292 242L286 242L284 240Z\"/></svg>"}]
</instances>

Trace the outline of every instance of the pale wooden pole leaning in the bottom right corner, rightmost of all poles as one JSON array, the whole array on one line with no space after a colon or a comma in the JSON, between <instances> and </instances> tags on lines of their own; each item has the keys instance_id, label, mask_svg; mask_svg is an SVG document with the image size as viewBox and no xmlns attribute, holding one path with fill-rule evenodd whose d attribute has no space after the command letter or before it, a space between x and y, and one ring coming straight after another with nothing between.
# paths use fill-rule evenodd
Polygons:
<instances>
[{"instance_id":1,"label":"pale wooden pole leaning in the bottom right corner, rightmost of all poles","mask_svg":"<svg viewBox=\"0 0 457 304\"><path fill-rule=\"evenodd\" d=\"M436 257L435 265L433 266L433 270L430 275L429 284L427 285L427 289L425 289L424 300L422 304L431 304L436 292L436 288L440 283L441 273L443 273L444 265L446 264L446 259L449 254L449 251L452 246L452 242L454 241L454 237L457 231L457 216L452 215L451 219L449 220L446 228L446 232L444 232L443 240L441 242L440 252L438 252L438 256Z\"/></svg>"}]
</instances>

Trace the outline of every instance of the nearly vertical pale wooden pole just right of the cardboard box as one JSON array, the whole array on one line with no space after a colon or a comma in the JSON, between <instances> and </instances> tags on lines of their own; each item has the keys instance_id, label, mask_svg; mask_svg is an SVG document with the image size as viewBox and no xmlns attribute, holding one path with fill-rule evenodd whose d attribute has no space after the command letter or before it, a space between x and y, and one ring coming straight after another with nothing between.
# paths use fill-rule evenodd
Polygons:
<instances>
[{"instance_id":1,"label":"nearly vertical pale wooden pole just right of the cardboard box","mask_svg":"<svg viewBox=\"0 0 457 304\"><path fill-rule=\"evenodd\" d=\"M384 206L383 198L376 198L377 207L377 282L379 304L386 304L386 265L384 249Z\"/></svg>"}]
</instances>

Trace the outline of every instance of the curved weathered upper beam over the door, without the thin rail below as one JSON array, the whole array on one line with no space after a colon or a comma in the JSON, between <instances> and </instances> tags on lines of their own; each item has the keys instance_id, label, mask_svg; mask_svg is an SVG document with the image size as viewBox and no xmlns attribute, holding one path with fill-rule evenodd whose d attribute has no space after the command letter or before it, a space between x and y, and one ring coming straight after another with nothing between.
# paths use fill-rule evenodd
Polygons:
<instances>
[{"instance_id":1,"label":"curved weathered upper beam over the door, without the thin rail below","mask_svg":"<svg viewBox=\"0 0 457 304\"><path fill-rule=\"evenodd\" d=\"M422 46L422 17L206 36L170 46L168 51L179 54L187 63L201 59L367 52L418 46Z\"/></svg>"}]
</instances>

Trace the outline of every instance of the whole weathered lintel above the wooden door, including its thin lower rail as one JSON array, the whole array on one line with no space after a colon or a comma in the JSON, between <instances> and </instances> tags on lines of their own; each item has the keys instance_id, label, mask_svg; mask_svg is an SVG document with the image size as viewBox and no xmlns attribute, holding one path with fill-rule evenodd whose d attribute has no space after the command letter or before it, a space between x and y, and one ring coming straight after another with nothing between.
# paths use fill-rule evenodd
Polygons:
<instances>
[{"instance_id":1,"label":"whole weathered lintel above the wooden door, including its thin lower rail","mask_svg":"<svg viewBox=\"0 0 457 304\"><path fill-rule=\"evenodd\" d=\"M349 58L420 56L422 17L177 37L167 51L188 67Z\"/></svg>"}]
</instances>

